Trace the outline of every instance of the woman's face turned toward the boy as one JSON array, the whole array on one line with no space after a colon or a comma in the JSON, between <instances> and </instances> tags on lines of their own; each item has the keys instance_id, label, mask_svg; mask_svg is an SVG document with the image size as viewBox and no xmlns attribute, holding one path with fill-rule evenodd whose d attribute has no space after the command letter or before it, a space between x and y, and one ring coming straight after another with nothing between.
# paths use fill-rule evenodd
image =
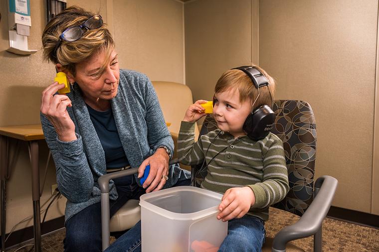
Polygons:
<instances>
[{"instance_id":1,"label":"woman's face turned toward the boy","mask_svg":"<svg viewBox=\"0 0 379 252\"><path fill-rule=\"evenodd\" d=\"M95 53L89 59L76 64L73 78L79 85L85 98L111 100L117 95L120 79L120 67L117 53L112 51L110 59L104 50ZM104 62L109 62L105 69Z\"/></svg>"}]
</instances>

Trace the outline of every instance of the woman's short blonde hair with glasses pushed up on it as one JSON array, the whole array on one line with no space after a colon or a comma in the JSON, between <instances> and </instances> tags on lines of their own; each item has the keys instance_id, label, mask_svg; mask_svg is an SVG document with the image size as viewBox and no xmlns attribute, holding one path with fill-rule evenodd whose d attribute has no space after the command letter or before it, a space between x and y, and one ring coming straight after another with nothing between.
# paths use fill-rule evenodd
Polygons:
<instances>
[{"instance_id":1,"label":"woman's short blonde hair with glasses pushed up on it","mask_svg":"<svg viewBox=\"0 0 379 252\"><path fill-rule=\"evenodd\" d=\"M59 63L75 76L75 64L88 59L94 53L104 50L106 55L112 53L114 40L111 33L103 25L97 29L84 30L83 36L73 42L63 40L59 36L69 27L79 26L95 13L84 10L78 6L71 6L51 19L42 34L43 57L55 64Z\"/></svg>"}]
</instances>

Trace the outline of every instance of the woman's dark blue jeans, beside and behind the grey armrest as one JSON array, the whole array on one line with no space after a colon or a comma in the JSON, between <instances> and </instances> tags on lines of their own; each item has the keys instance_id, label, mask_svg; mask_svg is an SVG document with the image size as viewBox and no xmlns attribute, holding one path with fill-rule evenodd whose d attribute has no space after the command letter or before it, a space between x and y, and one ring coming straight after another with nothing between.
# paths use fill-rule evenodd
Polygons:
<instances>
[{"instance_id":1,"label":"woman's dark blue jeans, beside and behind the grey armrest","mask_svg":"<svg viewBox=\"0 0 379 252\"><path fill-rule=\"evenodd\" d=\"M145 189L139 187L134 175L113 180L118 192L117 200L110 200L112 217L129 199L140 199ZM190 181L178 181L175 186L189 185ZM66 238L63 240L65 252L101 252L101 203L91 205L67 220ZM138 236L141 237L141 233Z\"/></svg>"}]
</instances>

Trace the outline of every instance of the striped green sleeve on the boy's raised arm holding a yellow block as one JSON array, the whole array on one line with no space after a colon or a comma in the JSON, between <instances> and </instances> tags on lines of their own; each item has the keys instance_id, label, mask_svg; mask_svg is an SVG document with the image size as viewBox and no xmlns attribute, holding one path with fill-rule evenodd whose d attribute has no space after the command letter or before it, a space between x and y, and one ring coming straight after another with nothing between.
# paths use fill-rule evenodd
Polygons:
<instances>
[{"instance_id":1,"label":"striped green sleeve on the boy's raised arm holding a yellow block","mask_svg":"<svg viewBox=\"0 0 379 252\"><path fill-rule=\"evenodd\" d=\"M194 142L194 129L195 123L182 121L178 137L178 157L186 165L200 164L204 160L201 140Z\"/></svg>"}]
</instances>

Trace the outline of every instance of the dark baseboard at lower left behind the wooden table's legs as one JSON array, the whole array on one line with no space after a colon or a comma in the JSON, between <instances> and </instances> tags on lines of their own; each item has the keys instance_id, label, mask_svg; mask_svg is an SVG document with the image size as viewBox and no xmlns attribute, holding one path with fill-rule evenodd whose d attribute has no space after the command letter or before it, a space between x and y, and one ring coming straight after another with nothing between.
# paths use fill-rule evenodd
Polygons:
<instances>
[{"instance_id":1,"label":"dark baseboard at lower left behind the wooden table's legs","mask_svg":"<svg viewBox=\"0 0 379 252\"><path fill-rule=\"evenodd\" d=\"M56 231L64 227L64 216L61 216L56 219L52 219L49 221L45 221L41 225L41 235L48 234L50 232ZM18 245L25 241L34 239L34 229L33 226L27 227L24 229L20 229L17 231L13 231L10 235L9 239L5 243L5 249L12 247L14 245ZM8 234L5 235L5 238ZM0 236L1 237L1 236Z\"/></svg>"}]
</instances>

